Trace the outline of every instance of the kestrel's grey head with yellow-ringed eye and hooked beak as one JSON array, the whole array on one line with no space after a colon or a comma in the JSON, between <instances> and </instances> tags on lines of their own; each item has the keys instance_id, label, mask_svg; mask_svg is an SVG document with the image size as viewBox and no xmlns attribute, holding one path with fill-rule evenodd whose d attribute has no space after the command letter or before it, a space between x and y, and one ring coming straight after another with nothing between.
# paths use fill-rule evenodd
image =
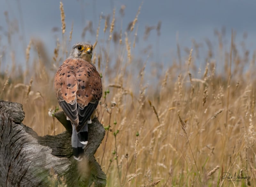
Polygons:
<instances>
[{"instance_id":1,"label":"kestrel's grey head with yellow-ringed eye and hooked beak","mask_svg":"<svg viewBox=\"0 0 256 187\"><path fill-rule=\"evenodd\" d=\"M88 42L78 42L73 45L68 58L82 58L92 63L92 44Z\"/></svg>"}]
</instances>

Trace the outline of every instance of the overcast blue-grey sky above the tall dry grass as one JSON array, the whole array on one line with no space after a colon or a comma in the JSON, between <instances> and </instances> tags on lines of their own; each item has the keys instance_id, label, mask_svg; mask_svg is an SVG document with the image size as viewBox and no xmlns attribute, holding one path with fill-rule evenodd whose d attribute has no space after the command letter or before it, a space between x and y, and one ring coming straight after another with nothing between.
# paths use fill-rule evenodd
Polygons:
<instances>
[{"instance_id":1,"label":"overcast blue-grey sky above the tall dry grass","mask_svg":"<svg viewBox=\"0 0 256 187\"><path fill-rule=\"evenodd\" d=\"M126 30L141 4L139 0L63 0L66 15L67 35L74 23L72 43L81 41L81 33L88 21L92 21L94 30L97 29L100 14L111 15L116 8L116 31ZM120 7L125 5L124 17L119 13ZM24 46L27 46L31 38L41 39L49 53L53 53L56 46L56 36L61 40L60 1L44 0L0 0L0 51L15 50L20 54L18 63L24 63ZM230 41L231 29L236 31L236 41L243 40L246 32L247 47L252 51L256 43L256 1L255 0L144 0L138 17L138 48L142 49L151 44L152 50L159 52L162 63L176 55L176 39L179 35L181 49L192 47L192 39L202 42L209 38L217 45L217 37L214 36L214 29L219 31L226 28L226 39ZM12 37L11 46L8 44L6 32L8 26L4 12L8 12L10 22L17 22L19 36ZM162 21L159 47L156 46L157 34L152 31L148 41L143 40L145 26L156 26ZM15 25L15 24L14 24ZM53 28L59 28L53 32ZM104 20L101 21L100 38L103 37ZM24 38L22 40L21 38ZM95 35L86 34L85 41L94 43ZM228 42L229 42L228 41ZM13 49L13 47L15 49ZM10 49L11 48L11 49ZM139 54L139 53L138 53ZM159 56L158 56L159 57ZM156 56L154 57L156 58ZM6 56L5 64L10 61Z\"/></svg>"}]
</instances>

